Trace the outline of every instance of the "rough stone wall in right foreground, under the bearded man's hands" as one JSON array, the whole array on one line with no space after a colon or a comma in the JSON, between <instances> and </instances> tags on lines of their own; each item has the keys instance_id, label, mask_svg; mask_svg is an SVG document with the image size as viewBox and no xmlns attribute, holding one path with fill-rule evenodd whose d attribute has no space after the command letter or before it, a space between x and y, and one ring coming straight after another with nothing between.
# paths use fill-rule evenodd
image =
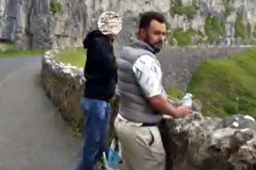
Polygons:
<instances>
[{"instance_id":1,"label":"rough stone wall in right foreground, under the bearded man's hands","mask_svg":"<svg viewBox=\"0 0 256 170\"><path fill-rule=\"evenodd\" d=\"M236 119L238 117L241 119ZM255 166L256 124L241 116L234 119L239 124L248 121L252 125L234 128L230 120L204 117L198 112L183 119L164 120L161 132L168 169L249 170Z\"/></svg>"}]
</instances>

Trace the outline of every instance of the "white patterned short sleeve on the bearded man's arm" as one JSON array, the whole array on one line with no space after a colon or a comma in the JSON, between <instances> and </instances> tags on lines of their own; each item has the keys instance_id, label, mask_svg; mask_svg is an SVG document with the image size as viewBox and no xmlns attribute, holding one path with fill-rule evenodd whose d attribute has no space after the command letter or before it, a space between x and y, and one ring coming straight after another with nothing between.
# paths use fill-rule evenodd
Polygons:
<instances>
[{"instance_id":1,"label":"white patterned short sleeve on the bearded man's arm","mask_svg":"<svg viewBox=\"0 0 256 170\"><path fill-rule=\"evenodd\" d=\"M146 97L166 94L162 86L162 71L154 58L149 55L140 56L132 70Z\"/></svg>"}]
</instances>

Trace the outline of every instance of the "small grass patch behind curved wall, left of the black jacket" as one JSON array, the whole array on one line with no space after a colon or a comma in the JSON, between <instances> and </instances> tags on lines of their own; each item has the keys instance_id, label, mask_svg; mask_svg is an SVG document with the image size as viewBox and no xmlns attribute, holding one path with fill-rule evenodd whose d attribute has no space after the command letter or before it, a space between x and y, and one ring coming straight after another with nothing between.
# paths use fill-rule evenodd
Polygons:
<instances>
[{"instance_id":1,"label":"small grass patch behind curved wall, left of the black jacket","mask_svg":"<svg viewBox=\"0 0 256 170\"><path fill-rule=\"evenodd\" d=\"M72 66L84 67L85 55L86 52L83 48L67 48L57 55L56 60L66 64L70 63Z\"/></svg>"}]
</instances>

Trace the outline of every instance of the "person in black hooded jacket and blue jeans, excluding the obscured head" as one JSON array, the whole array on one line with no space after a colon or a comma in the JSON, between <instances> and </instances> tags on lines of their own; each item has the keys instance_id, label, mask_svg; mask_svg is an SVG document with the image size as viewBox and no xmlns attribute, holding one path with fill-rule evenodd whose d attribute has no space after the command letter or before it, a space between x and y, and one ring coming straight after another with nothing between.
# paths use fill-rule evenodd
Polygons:
<instances>
[{"instance_id":1,"label":"person in black hooded jacket and blue jeans, excluding the obscured head","mask_svg":"<svg viewBox=\"0 0 256 170\"><path fill-rule=\"evenodd\" d=\"M116 35L104 35L99 30L90 32L83 41L87 49L84 67L86 79L81 107L85 119L85 138L82 161L76 170L92 170L102 156L110 123L110 99L117 84L117 63L113 53Z\"/></svg>"}]
</instances>

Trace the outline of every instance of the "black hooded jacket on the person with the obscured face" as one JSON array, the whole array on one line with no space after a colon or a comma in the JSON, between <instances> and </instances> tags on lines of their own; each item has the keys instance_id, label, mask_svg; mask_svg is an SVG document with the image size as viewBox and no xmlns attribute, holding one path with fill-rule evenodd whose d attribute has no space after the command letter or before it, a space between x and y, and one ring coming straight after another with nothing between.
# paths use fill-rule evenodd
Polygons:
<instances>
[{"instance_id":1,"label":"black hooded jacket on the person with the obscured face","mask_svg":"<svg viewBox=\"0 0 256 170\"><path fill-rule=\"evenodd\" d=\"M83 46L87 49L84 97L109 101L115 94L117 83L112 41L99 30L94 30L88 33Z\"/></svg>"}]
</instances>

